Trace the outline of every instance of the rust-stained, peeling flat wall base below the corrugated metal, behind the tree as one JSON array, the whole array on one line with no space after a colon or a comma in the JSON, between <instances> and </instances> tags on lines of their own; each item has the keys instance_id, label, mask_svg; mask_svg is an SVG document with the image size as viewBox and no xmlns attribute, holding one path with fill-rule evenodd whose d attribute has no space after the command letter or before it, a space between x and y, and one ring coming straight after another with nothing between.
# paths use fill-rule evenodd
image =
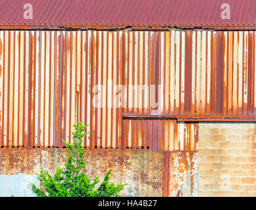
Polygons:
<instances>
[{"instance_id":1,"label":"rust-stained, peeling flat wall base below the corrugated metal, behind the tree","mask_svg":"<svg viewBox=\"0 0 256 210\"><path fill-rule=\"evenodd\" d=\"M64 149L0 150L0 196L32 196L26 188L40 167L55 173L64 165ZM88 150L86 173L101 180L113 169L111 181L127 183L122 196L197 196L197 152ZM21 178L22 179L21 179ZM15 184L15 186L11 183Z\"/></svg>"}]
</instances>

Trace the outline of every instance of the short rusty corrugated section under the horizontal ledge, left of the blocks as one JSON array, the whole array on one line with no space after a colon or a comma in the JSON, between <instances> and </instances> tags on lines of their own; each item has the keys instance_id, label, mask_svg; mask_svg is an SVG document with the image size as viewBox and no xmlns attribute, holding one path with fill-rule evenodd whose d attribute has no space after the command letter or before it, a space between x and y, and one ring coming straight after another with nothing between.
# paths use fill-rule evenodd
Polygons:
<instances>
[{"instance_id":1,"label":"short rusty corrugated section under the horizontal ledge, left of the blocks","mask_svg":"<svg viewBox=\"0 0 256 210\"><path fill-rule=\"evenodd\" d=\"M198 150L197 123L176 120L125 120L121 148L132 150ZM119 147L119 145L118 145Z\"/></svg>"}]
</instances>

